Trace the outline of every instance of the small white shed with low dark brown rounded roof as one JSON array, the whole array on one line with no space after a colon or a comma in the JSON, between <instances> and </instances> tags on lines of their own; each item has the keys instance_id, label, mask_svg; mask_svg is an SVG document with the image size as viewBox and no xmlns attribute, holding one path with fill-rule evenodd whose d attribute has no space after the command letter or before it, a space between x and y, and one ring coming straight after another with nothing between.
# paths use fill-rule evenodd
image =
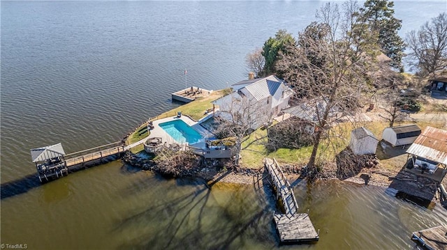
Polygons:
<instances>
[{"instance_id":1,"label":"small white shed with low dark brown rounded roof","mask_svg":"<svg viewBox=\"0 0 447 250\"><path fill-rule=\"evenodd\" d=\"M383 130L382 139L391 144L391 146L403 146L413 143L420 134L420 128L417 125L401 125L396 127L387 127Z\"/></svg>"}]
</instances>

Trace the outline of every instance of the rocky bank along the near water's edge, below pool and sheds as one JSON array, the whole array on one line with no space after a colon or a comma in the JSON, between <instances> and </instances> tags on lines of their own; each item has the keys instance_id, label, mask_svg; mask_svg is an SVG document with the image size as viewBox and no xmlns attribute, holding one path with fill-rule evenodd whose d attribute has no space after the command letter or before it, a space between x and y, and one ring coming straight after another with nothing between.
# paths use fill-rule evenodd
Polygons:
<instances>
[{"instance_id":1,"label":"rocky bank along the near water's edge, below pool and sheds","mask_svg":"<svg viewBox=\"0 0 447 250\"><path fill-rule=\"evenodd\" d=\"M130 164L131 166L139 167L143 171L151 171L152 173L157 173L163 176L163 178L197 178L201 180L205 180L206 185L214 185L216 183L225 183L232 185L254 185L256 182L256 178L263 178L263 168L261 169L249 169L249 168L237 168L237 169L225 169L221 166L216 166L216 164L211 164L211 166L206 166L201 164L200 166L194 166L192 169L184 170L180 172L178 175L166 175L161 171L161 169L156 167L154 161L149 158L140 157L138 155L134 155L133 153L129 153L126 156L122 157L122 161L126 164ZM299 166L283 166L284 174L289 182L293 183L296 180L307 180L307 177L304 173L305 169ZM432 196L428 194L428 197L432 197L429 199L424 198L427 197L427 194L418 194L415 193L413 187L408 185L408 180L399 180L397 175L399 173L393 173L390 171L386 171L382 169L380 166L361 169L361 171L349 178L340 179L337 178L336 169L328 166L324 168L323 171L318 173L316 177L317 181L332 181L338 180L341 182L346 182L350 184L356 185L368 185L374 187L383 187L385 189L392 188L393 182L398 181L400 185L395 185L399 187L396 189L397 192L403 193L403 196L400 196L405 199L416 200L420 199L420 203L424 204L439 204L446 207L446 203L442 202L441 199L437 196L437 194L433 194ZM259 176L261 175L261 176ZM365 178L367 177L367 178ZM427 181L427 180L425 180ZM421 185L425 185L426 187L430 187L431 184L427 184L428 182L420 182ZM396 196L397 197L397 196ZM408 198L409 197L409 198ZM411 198L413 197L413 198ZM428 201L428 203L427 203Z\"/></svg>"}]
</instances>

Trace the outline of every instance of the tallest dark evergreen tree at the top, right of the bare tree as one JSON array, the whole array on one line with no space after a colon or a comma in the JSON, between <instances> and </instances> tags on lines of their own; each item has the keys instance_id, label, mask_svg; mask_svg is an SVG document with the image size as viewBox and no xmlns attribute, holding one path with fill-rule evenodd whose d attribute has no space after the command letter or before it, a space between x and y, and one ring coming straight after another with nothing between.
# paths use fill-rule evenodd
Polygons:
<instances>
[{"instance_id":1,"label":"tallest dark evergreen tree at the top, right of the bare tree","mask_svg":"<svg viewBox=\"0 0 447 250\"><path fill-rule=\"evenodd\" d=\"M393 7L393 1L367 0L360 8L360 18L376 37L383 54L393 60L393 67L401 68L405 43L397 31L402 27L402 20L394 17Z\"/></svg>"}]
</instances>

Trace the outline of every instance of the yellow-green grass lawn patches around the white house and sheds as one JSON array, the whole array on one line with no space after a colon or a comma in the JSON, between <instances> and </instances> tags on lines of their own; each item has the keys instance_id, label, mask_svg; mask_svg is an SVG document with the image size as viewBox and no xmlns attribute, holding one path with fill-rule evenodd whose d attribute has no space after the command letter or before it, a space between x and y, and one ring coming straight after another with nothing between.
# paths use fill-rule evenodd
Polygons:
<instances>
[{"instance_id":1,"label":"yellow-green grass lawn patches around the white house and sheds","mask_svg":"<svg viewBox=\"0 0 447 250\"><path fill-rule=\"evenodd\" d=\"M207 97L200 97L193 102L184 104L176 109L166 111L165 113L152 119L156 120L166 118L168 116L176 116L178 111L182 111L182 114L191 116L191 118L195 120L199 120L200 118L203 118L207 109L212 108L212 101L217 100L228 93L230 93L229 89L213 91L213 93ZM409 124L409 122L395 123L395 125L402 124ZM427 121L417 121L416 125L418 125L421 129L424 129L427 125L439 128L444 126L443 123ZM320 146L318 147L317 161L332 162L335 159L335 156L349 145L351 130L360 126L367 127L367 129L371 130L376 135L377 139L381 140L382 132L386 127L388 127L388 123L385 121L374 121L357 123L356 125L353 125L352 123L337 124L335 127L332 127L329 138L321 141ZM126 143L130 144L135 141L139 141L148 135L146 124L142 124L135 130L135 132L133 132L133 134L129 136ZM264 146L267 140L266 137L267 130L258 129L246 138L246 141L242 143L242 166L259 169L263 166L264 157L276 158L280 164L305 165L309 161L313 146L307 146L299 149L279 148L278 150L269 153ZM143 150L142 145L133 148L132 152L138 153L141 150ZM378 153L378 157L380 157L380 153ZM381 164L386 169L400 168L402 167L402 161L404 161L404 158L406 159L406 154L396 155L393 157L383 157L383 159L381 159Z\"/></svg>"}]
</instances>

